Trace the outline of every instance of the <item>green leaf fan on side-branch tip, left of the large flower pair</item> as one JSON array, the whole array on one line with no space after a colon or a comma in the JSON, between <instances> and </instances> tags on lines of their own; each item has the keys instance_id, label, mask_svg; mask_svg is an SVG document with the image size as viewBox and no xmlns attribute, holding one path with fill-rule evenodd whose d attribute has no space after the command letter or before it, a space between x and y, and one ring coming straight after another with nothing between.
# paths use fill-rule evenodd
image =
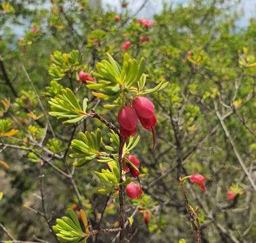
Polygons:
<instances>
[{"instance_id":1,"label":"green leaf fan on side-branch tip, left of the large flower pair","mask_svg":"<svg viewBox=\"0 0 256 243\"><path fill-rule=\"evenodd\" d=\"M75 124L87 117L87 101L87 98L83 100L82 109L72 90L70 90L70 88L62 89L61 94L56 98L51 98L49 101L51 105L49 115L61 119L64 125Z\"/></svg>"}]
</instances>

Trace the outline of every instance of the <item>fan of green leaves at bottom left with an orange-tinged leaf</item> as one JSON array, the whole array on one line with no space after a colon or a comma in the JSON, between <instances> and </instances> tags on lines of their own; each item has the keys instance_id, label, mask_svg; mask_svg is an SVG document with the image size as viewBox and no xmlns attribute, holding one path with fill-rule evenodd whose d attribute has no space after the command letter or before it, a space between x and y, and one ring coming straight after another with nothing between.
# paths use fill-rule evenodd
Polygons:
<instances>
[{"instance_id":1,"label":"fan of green leaves at bottom left with an orange-tinged leaf","mask_svg":"<svg viewBox=\"0 0 256 243\"><path fill-rule=\"evenodd\" d=\"M87 225L87 217L83 210L80 211L81 218L83 220L83 225L85 227L85 232L79 223L79 219L72 211L72 209L68 209L69 217L62 217L61 219L56 219L56 225L52 228L54 229L54 233L58 237L60 242L86 242L89 236L89 229Z\"/></svg>"}]
</instances>

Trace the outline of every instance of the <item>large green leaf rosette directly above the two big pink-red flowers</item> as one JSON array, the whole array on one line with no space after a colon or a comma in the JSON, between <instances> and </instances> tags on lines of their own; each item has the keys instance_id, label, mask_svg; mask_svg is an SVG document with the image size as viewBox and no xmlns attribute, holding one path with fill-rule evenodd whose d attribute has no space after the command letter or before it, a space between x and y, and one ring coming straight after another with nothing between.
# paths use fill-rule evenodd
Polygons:
<instances>
[{"instance_id":1,"label":"large green leaf rosette directly above the two big pink-red flowers","mask_svg":"<svg viewBox=\"0 0 256 243\"><path fill-rule=\"evenodd\" d=\"M92 92L95 97L112 102L112 105L104 106L107 109L119 107L119 104L123 103L123 99L125 99L129 92L135 93L136 95L150 94L162 90L168 84L163 81L154 88L144 90L146 83L144 69L146 63L143 57L139 62L125 53L123 66L120 67L119 63L111 55L107 55L108 61L103 60L97 63L96 69L98 72L93 73L98 78L98 82L87 84L87 88L98 91ZM137 84L137 88L133 87L134 84ZM113 103L114 101L116 103Z\"/></svg>"}]
</instances>

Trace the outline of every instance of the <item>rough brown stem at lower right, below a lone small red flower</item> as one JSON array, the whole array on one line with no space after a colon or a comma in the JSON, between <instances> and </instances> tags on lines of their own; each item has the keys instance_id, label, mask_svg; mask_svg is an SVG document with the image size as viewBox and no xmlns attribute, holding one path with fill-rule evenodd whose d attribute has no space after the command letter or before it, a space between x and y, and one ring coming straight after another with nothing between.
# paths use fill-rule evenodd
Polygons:
<instances>
[{"instance_id":1,"label":"rough brown stem at lower right, below a lone small red flower","mask_svg":"<svg viewBox=\"0 0 256 243\"><path fill-rule=\"evenodd\" d=\"M198 216L196 215L196 212L192 211L190 204L188 202L188 196L186 195L185 189L184 189L184 182L182 182L182 178L179 178L179 185L180 188L182 189L182 194L184 196L184 202L185 202L185 206L186 209L188 211L188 216L190 218L190 223L192 225L193 228L193 232L194 232L194 240L196 243L200 243L201 242L201 230L200 230L200 223L199 223L199 219Z\"/></svg>"}]
</instances>

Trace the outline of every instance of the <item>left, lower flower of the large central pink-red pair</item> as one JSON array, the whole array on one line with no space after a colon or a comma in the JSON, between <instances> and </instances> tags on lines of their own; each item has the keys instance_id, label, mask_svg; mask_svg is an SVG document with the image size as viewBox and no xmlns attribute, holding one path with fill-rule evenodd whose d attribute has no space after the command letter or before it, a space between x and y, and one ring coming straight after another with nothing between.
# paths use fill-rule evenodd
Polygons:
<instances>
[{"instance_id":1,"label":"left, lower flower of the large central pink-red pair","mask_svg":"<svg viewBox=\"0 0 256 243\"><path fill-rule=\"evenodd\" d=\"M134 136L137 131L137 114L130 106L123 107L117 117L120 134L123 138Z\"/></svg>"}]
</instances>

